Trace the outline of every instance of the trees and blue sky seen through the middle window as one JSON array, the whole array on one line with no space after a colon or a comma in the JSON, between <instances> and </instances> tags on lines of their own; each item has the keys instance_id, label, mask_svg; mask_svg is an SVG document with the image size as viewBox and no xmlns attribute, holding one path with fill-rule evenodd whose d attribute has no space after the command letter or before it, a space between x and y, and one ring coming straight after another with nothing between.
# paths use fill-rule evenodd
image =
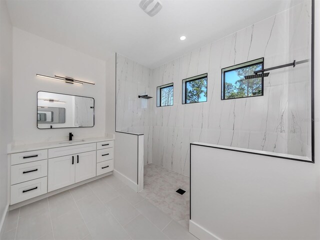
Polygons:
<instances>
[{"instance_id":1,"label":"trees and blue sky seen through the middle window","mask_svg":"<svg viewBox=\"0 0 320 240\"><path fill-rule=\"evenodd\" d=\"M201 78L186 82L186 103L203 101L201 97L206 99L206 81L207 78Z\"/></svg>"}]
</instances>

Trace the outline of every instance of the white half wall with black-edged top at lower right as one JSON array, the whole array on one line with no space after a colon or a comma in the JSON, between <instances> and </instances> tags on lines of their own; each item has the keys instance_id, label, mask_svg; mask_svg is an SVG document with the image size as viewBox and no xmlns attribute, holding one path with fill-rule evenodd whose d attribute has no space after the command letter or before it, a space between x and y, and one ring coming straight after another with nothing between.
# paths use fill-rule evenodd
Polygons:
<instances>
[{"instance_id":1,"label":"white half wall with black-edged top at lower right","mask_svg":"<svg viewBox=\"0 0 320 240\"><path fill-rule=\"evenodd\" d=\"M319 239L319 159L191 145L190 232L199 239L205 230L223 240Z\"/></svg>"}]
</instances>

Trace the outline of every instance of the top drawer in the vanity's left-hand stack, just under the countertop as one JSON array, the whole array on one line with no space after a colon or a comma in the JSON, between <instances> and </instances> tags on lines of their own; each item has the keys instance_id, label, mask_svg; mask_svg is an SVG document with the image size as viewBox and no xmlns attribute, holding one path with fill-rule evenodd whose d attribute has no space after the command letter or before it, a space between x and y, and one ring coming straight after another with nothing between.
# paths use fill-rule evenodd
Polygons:
<instances>
[{"instance_id":1,"label":"top drawer in the vanity's left-hand stack, just under the countertop","mask_svg":"<svg viewBox=\"0 0 320 240\"><path fill-rule=\"evenodd\" d=\"M11 165L38 161L46 158L48 158L47 149L18 152L11 154Z\"/></svg>"}]
</instances>

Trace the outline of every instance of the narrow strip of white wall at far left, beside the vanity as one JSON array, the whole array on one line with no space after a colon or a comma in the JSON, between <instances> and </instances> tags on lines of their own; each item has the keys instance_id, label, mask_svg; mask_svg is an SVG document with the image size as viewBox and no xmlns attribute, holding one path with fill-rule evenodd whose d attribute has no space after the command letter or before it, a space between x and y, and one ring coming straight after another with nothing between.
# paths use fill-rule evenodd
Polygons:
<instances>
[{"instance_id":1,"label":"narrow strip of white wall at far left, beside the vanity","mask_svg":"<svg viewBox=\"0 0 320 240\"><path fill-rule=\"evenodd\" d=\"M0 1L0 227L7 206L6 146L12 139L12 25Z\"/></svg>"}]
</instances>

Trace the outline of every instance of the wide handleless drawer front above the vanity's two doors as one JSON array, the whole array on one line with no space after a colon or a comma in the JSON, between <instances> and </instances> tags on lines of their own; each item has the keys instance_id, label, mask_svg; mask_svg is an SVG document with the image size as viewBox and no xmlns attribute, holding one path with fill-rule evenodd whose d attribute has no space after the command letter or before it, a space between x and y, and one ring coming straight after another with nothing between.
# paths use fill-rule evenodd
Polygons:
<instances>
[{"instance_id":1,"label":"wide handleless drawer front above the vanity's two doors","mask_svg":"<svg viewBox=\"0 0 320 240\"><path fill-rule=\"evenodd\" d=\"M87 143L87 144L79 144L73 146L61 146L56 148L49 149L49 158L58 157L58 156L66 156L72 155L85 151L93 151L95 150L95 143Z\"/></svg>"}]
</instances>

